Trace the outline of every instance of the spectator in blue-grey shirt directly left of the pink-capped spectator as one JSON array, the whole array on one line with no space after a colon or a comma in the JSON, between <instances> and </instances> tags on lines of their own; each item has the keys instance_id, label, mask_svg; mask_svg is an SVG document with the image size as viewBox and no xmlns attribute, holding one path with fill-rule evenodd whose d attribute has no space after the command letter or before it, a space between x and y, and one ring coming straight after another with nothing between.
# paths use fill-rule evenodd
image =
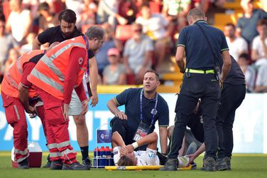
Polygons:
<instances>
[{"instance_id":1,"label":"spectator in blue-grey shirt directly left of the pink-capped spectator","mask_svg":"<svg viewBox=\"0 0 267 178\"><path fill-rule=\"evenodd\" d=\"M107 37L103 43L103 46L99 48L99 51L96 53L98 73L101 76L104 68L109 65L107 51L109 51L110 48L117 48L121 52L124 48L121 44L121 41L115 38L114 29L112 28L111 24L104 23L102 27L105 29Z\"/></svg>"}]
</instances>

